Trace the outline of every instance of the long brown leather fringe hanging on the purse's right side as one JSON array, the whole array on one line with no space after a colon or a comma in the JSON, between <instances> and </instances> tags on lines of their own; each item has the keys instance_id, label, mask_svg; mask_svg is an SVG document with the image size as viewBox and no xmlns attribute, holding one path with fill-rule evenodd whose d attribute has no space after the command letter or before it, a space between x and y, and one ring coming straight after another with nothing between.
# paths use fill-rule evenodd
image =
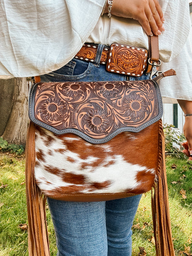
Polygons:
<instances>
[{"instance_id":1,"label":"long brown leather fringe hanging on the purse's right side","mask_svg":"<svg viewBox=\"0 0 192 256\"><path fill-rule=\"evenodd\" d=\"M159 154L157 180L154 195L151 190L151 207L154 226L156 256L175 256L169 215L168 188L165 165L165 143L162 121L159 121Z\"/></svg>"}]
</instances>

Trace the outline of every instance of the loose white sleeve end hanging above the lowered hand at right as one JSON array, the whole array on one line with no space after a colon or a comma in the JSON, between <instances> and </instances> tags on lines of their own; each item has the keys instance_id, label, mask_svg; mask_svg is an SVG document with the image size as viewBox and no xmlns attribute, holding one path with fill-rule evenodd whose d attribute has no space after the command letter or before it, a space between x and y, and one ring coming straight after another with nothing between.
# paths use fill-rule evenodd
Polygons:
<instances>
[{"instance_id":1,"label":"loose white sleeve end hanging above the lowered hand at right","mask_svg":"<svg viewBox=\"0 0 192 256\"><path fill-rule=\"evenodd\" d=\"M170 76L160 81L160 91L166 103L177 103L173 99L192 101L192 29L180 54L168 63L162 62L160 69L174 69L177 76Z\"/></svg>"}]
</instances>

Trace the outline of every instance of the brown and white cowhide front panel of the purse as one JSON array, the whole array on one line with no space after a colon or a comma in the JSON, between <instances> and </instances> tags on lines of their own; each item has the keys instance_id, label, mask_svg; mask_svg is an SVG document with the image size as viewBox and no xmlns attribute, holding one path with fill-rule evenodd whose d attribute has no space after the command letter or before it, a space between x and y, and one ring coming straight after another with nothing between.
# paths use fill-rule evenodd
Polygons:
<instances>
[{"instance_id":1,"label":"brown and white cowhide front panel of the purse","mask_svg":"<svg viewBox=\"0 0 192 256\"><path fill-rule=\"evenodd\" d=\"M45 195L62 200L74 194L147 192L157 173L159 122L138 133L122 132L104 144L35 126L37 185Z\"/></svg>"}]
</instances>

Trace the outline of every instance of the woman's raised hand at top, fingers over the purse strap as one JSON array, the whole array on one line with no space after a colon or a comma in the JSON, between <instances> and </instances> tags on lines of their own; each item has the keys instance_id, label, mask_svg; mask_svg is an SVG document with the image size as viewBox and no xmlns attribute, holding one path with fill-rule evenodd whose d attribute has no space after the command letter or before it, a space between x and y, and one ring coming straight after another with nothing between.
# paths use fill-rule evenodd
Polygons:
<instances>
[{"instance_id":1,"label":"woman's raised hand at top, fingers over the purse strap","mask_svg":"<svg viewBox=\"0 0 192 256\"><path fill-rule=\"evenodd\" d=\"M108 4L105 13L108 12ZM111 14L138 20L147 35L161 35L163 12L158 0L113 0Z\"/></svg>"}]
</instances>

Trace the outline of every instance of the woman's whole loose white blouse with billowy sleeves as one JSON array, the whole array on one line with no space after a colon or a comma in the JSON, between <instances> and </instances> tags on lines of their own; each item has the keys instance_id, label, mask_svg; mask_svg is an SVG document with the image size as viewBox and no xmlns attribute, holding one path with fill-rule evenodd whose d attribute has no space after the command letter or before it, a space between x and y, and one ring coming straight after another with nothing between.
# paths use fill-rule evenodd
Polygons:
<instances>
[{"instance_id":1,"label":"woman's whole loose white blouse with billowy sleeves","mask_svg":"<svg viewBox=\"0 0 192 256\"><path fill-rule=\"evenodd\" d=\"M188 0L159 0L166 31L159 36L163 96L192 100L192 33ZM37 76L70 61L84 42L148 49L137 20L101 16L105 0L1 0L0 78ZM189 33L190 32L190 33ZM169 62L170 61L170 62ZM166 63L169 62L169 63Z\"/></svg>"}]
</instances>

